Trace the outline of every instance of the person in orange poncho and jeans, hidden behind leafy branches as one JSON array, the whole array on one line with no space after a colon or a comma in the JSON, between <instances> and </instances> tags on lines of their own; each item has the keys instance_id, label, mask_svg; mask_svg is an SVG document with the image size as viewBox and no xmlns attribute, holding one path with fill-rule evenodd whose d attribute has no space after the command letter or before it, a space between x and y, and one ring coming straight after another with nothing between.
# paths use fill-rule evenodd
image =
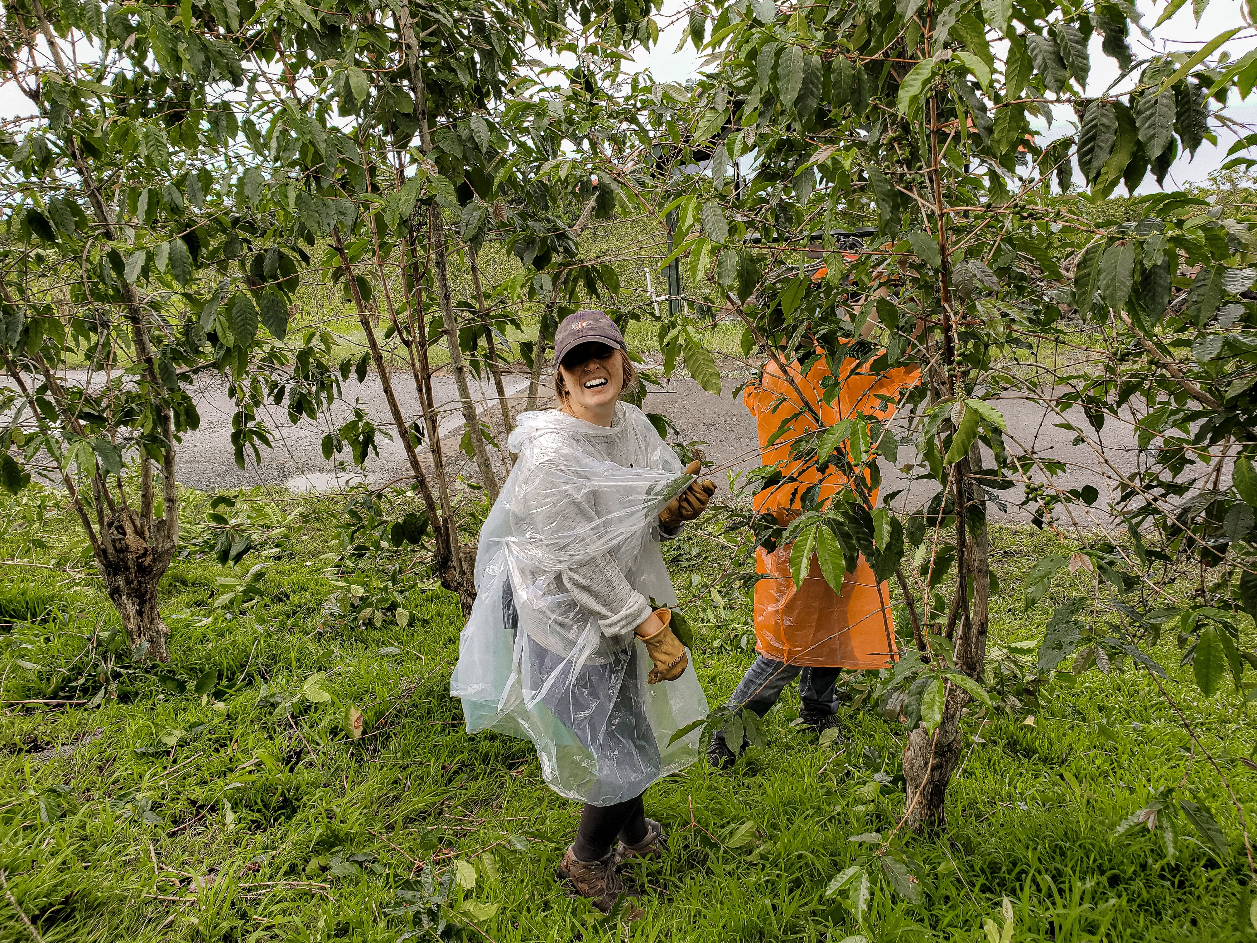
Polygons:
<instances>
[{"instance_id":1,"label":"person in orange poncho and jeans, hidden behind leafy branches","mask_svg":"<svg viewBox=\"0 0 1257 943\"><path fill-rule=\"evenodd\" d=\"M823 269L817 277L823 277ZM808 405L815 409L825 425L860 411L865 416L889 420L895 410L891 404L905 385L916 377L915 368L892 368L880 375L867 372L867 363L847 357L840 367L841 391L832 406L822 400L821 381L828 377L826 360L817 360L803 376L799 365L789 366L791 376ZM759 383L749 383L743 392L743 402L758 421L762 460L766 465L783 461L789 456L789 443L816 430L816 421L802 411L799 394L788 383L781 368L769 362ZM782 421L798 412L789 421L789 431L768 441ZM787 523L799 513L799 495L811 484L820 483L818 500L832 498L846 487L847 478L836 470L821 474L816 466L799 470L802 461L782 466L788 483L768 488L755 495L755 513L773 513L778 523ZM876 500L876 492L874 493ZM802 588L796 588L791 576L789 557L793 544L778 546L768 552L755 551L755 570L767 576L755 583L754 624L758 658L747 670L730 704L740 704L759 717L777 703L782 690L796 676L799 679L802 708L799 719L817 733L833 727L837 713L836 685L838 674L848 669L879 669L890 664L897 653L894 620L890 615L890 590L877 585L872 568L864 556L854 573L846 573L842 593L836 593L821 575L813 554ZM733 752L716 733L708 751L713 766L727 767L734 761Z\"/></svg>"}]
</instances>

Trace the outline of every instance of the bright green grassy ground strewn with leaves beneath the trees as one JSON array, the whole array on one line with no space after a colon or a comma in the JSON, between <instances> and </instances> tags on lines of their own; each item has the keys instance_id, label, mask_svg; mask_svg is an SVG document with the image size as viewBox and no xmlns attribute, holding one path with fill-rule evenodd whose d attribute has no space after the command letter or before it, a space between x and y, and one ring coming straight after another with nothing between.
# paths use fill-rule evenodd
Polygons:
<instances>
[{"instance_id":1,"label":"bright green grassy ground strewn with leaves beneath the trees","mask_svg":"<svg viewBox=\"0 0 1257 943\"><path fill-rule=\"evenodd\" d=\"M984 919L1003 922L1006 896L1014 922L1006 939L1018 942L1252 938L1242 929L1247 865L1234 810L1146 674L1091 673L1055 687L1033 708L1033 725L1024 714L970 718L949 835L910 842L921 903L875 883L864 927L825 889L860 849L850 836L887 831L903 811L892 785L903 732L867 707L843 708L850 742L818 746L791 725L798 700L788 693L769 714L766 749L752 748L732 773L699 763L647 792L671 850L637 875L645 914L620 928L553 879L578 810L541 783L530 746L463 732L446 693L461 616L421 567L409 571L411 554L354 563L341 556L333 502L289 503L277 517L259 498L255 519L274 526L270 557L224 571L194 544L171 567L163 612L173 659L163 683L108 654L117 619L74 570L72 522L54 500L40 510L28 495L0 504L0 557L52 568L5 566L0 581L0 869L47 943L392 943L431 938L407 935L425 913L494 943L968 942L985 939ZM194 541L201 522L201 512L189 514ZM750 612L727 583L716 597L706 588L750 561L719 542L738 539L720 536L719 514L706 531L669 544L669 563L683 602L693 601L696 668L715 704L750 663ZM998 529L1004 585L1052 539ZM224 580L265 560L256 601L239 611L215 605L240 588ZM333 580L346 577L363 585L363 598L383 600L380 626L349 627L324 611L329 593L347 592ZM997 598L993 635L1041 635L1052 597L1070 588L1055 587L1031 615ZM390 602L391 591L400 598ZM410 615L405 627L398 606ZM1159 660L1177 665L1172 642ZM111 666L116 689L70 708L15 703L48 697L54 666L68 670L58 698L108 693L99 678ZM1207 702L1188 684L1169 690L1252 807L1253 773L1227 759L1253 741L1239 702ZM365 715L357 742L347 736L351 708ZM38 759L84 738L68 758ZM1144 829L1114 835L1149 790L1180 782L1218 813L1226 861L1189 839L1168 860ZM458 878L446 907L429 907L424 875L436 875L437 888ZM6 900L0 939L34 939Z\"/></svg>"}]
</instances>

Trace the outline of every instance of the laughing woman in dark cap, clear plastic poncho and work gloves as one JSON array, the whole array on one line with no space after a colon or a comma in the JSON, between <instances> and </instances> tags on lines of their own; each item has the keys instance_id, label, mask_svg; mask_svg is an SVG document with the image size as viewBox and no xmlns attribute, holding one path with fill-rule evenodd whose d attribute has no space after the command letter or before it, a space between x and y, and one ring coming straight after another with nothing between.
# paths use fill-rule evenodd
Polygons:
<instances>
[{"instance_id":1,"label":"laughing woman in dark cap, clear plastic poncho and work gloves","mask_svg":"<svg viewBox=\"0 0 1257 943\"><path fill-rule=\"evenodd\" d=\"M620 402L636 372L611 318L569 316L554 353L561 406L525 412L510 435L519 459L480 531L450 693L469 733L533 741L546 782L586 803L559 878L606 910L623 889L616 868L666 847L646 787L698 758L698 731L670 742L708 708L669 627L660 541L715 484Z\"/></svg>"}]
</instances>

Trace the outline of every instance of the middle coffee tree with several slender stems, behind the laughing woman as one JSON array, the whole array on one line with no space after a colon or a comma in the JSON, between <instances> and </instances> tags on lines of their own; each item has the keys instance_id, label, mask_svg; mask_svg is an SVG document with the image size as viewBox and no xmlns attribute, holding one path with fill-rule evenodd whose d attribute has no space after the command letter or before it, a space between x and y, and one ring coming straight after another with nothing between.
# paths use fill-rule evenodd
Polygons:
<instances>
[{"instance_id":1,"label":"middle coffee tree with several slender stems, behind the laughing woman","mask_svg":"<svg viewBox=\"0 0 1257 943\"><path fill-rule=\"evenodd\" d=\"M322 270L343 285L366 338L360 375L373 366L383 385L392 433L434 534L435 570L470 607L473 551L459 532L458 469L440 439L431 348L441 343L449 355L464 445L493 500L498 470L468 375L483 370L491 377L509 433L500 332L519 326L519 307L542 308L538 339L520 345L532 362L533 405L556 318L581 289L587 297L617 290L611 267L579 258L578 236L590 219L610 218L617 205L610 175L593 186L597 167L610 161L600 150L603 79L615 78L607 63L622 55L617 48L649 41L657 28L649 9L634 4L510 3L362 4L253 26L258 68L284 89L258 99L250 116L258 206L274 223L264 241L323 253ZM528 44L574 57L578 65L529 60ZM556 72L564 84L541 84L529 69ZM568 225L557 210L573 190L582 209ZM486 240L503 241L519 262L503 283L485 283L479 255ZM255 251L256 259L269 249ZM460 256L470 297L460 297L451 274ZM417 417L405 414L393 389L397 353L419 394ZM324 450L349 445L361 461L363 436L375 431L347 424Z\"/></svg>"}]
</instances>

